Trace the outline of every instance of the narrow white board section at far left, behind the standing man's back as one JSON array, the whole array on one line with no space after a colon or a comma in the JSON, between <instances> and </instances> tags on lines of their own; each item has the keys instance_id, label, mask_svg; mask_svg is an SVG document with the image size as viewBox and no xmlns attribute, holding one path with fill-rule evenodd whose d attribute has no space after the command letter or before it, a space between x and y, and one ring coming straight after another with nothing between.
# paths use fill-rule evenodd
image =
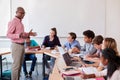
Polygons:
<instances>
[{"instance_id":1,"label":"narrow white board section at far left, behind the standing man's back","mask_svg":"<svg viewBox=\"0 0 120 80\"><path fill-rule=\"evenodd\" d=\"M10 20L10 0L0 0L0 36L6 36Z\"/></svg>"}]
</instances>

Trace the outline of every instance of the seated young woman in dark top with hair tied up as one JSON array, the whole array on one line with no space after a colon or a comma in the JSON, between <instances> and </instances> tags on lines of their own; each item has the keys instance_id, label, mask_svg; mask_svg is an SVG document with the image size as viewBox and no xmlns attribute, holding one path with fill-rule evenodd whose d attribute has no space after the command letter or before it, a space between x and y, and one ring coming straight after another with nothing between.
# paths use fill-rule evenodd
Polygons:
<instances>
[{"instance_id":1,"label":"seated young woman in dark top with hair tied up","mask_svg":"<svg viewBox=\"0 0 120 80\"><path fill-rule=\"evenodd\" d=\"M46 47L50 47L50 48L55 48L56 46L61 46L60 44L60 41L59 41L59 38L57 36L57 30L56 28L51 28L50 30L50 35L47 35L45 36L44 40L43 40L43 43L42 43L42 48L46 48ZM47 60L51 60L51 67L54 66L54 62L55 62L55 58L51 58L50 59L50 56L48 55L45 55L45 64L46 64L46 67L51 70L51 67L50 65L48 64ZM47 73L49 74L49 72Z\"/></svg>"}]
</instances>

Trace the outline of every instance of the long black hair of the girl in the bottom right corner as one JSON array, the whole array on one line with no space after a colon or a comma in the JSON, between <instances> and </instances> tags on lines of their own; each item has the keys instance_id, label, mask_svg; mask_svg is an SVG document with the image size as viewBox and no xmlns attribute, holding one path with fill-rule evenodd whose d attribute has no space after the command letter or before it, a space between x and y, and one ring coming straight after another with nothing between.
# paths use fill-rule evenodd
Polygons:
<instances>
[{"instance_id":1,"label":"long black hair of the girl in the bottom right corner","mask_svg":"<svg viewBox=\"0 0 120 80\"><path fill-rule=\"evenodd\" d=\"M107 77L111 78L113 73L120 68L120 56L117 56L113 49L105 48L102 51L102 57L108 60Z\"/></svg>"}]
</instances>

